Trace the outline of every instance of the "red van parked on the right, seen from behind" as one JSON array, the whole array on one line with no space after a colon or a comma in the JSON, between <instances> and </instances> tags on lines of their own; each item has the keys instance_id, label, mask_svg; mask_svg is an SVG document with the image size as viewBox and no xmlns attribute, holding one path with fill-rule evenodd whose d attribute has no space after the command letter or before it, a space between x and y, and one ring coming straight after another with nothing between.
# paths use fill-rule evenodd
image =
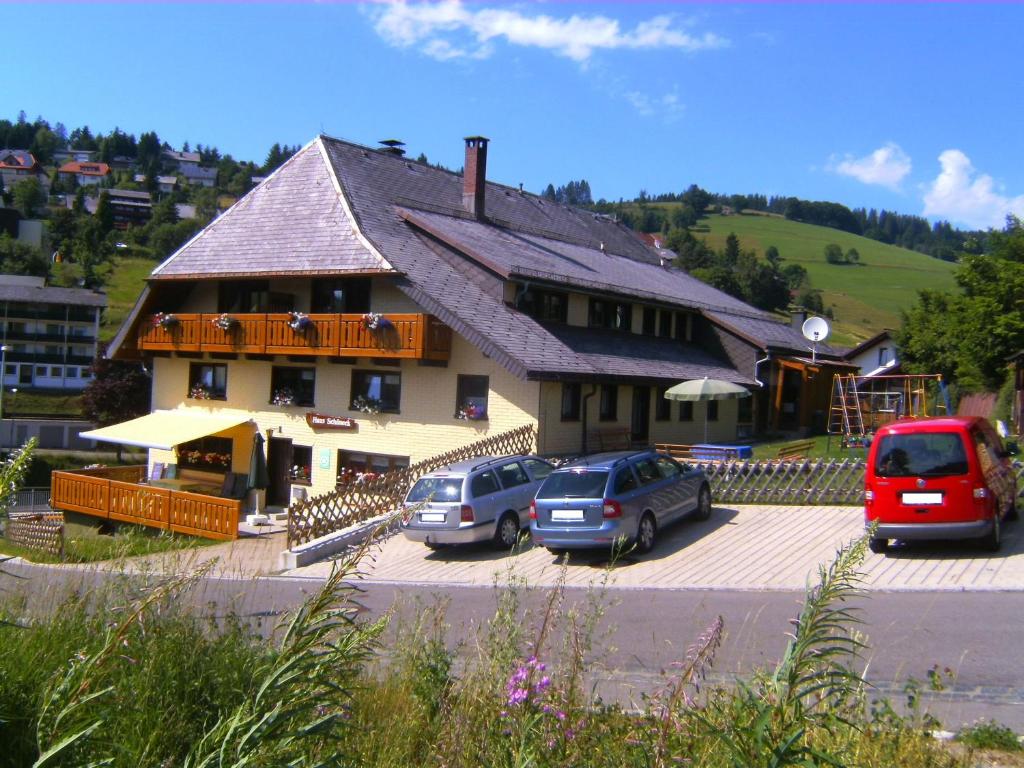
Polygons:
<instances>
[{"instance_id":1,"label":"red van parked on the right, seen from behind","mask_svg":"<svg viewBox=\"0 0 1024 768\"><path fill-rule=\"evenodd\" d=\"M864 521L872 552L890 539L975 539L995 552L1017 518L1017 475L984 419L945 417L882 427L867 454Z\"/></svg>"}]
</instances>

